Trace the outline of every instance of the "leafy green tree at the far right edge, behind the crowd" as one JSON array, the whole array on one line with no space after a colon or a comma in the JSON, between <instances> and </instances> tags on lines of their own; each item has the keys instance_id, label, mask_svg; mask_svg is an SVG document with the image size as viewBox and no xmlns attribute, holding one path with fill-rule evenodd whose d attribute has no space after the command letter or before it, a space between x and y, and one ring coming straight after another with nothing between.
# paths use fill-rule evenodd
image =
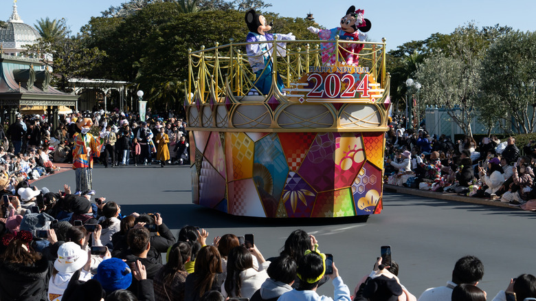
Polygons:
<instances>
[{"instance_id":1,"label":"leafy green tree at the far right edge, behind the crowd","mask_svg":"<svg viewBox=\"0 0 536 301\"><path fill-rule=\"evenodd\" d=\"M510 123L513 118L518 133L535 131L535 56L535 32L509 32L489 47L480 70L479 108L484 122Z\"/></svg>"}]
</instances>

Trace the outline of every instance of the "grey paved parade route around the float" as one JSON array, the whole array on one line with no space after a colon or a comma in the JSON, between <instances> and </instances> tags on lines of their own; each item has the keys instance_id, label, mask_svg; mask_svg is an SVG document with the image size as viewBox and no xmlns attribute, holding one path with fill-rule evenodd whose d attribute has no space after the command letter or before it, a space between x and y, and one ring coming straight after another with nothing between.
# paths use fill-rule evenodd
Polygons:
<instances>
[{"instance_id":1,"label":"grey paved parade route around the float","mask_svg":"<svg viewBox=\"0 0 536 301\"><path fill-rule=\"evenodd\" d=\"M35 185L57 190L63 183L74 186L74 171ZM427 287L445 285L456 260L467 254L484 263L484 279L478 286L490 300L506 289L510 278L536 273L532 212L386 192L383 212L370 216L367 223L241 218L192 204L187 166L96 166L93 189L96 197L119 203L122 213L161 212L175 235L186 224L205 227L210 242L216 235L253 233L266 258L278 254L291 231L306 230L316 236L322 252L334 255L350 291L370 272L381 245L392 246L401 282L417 298ZM319 292L333 296L333 286L324 285Z\"/></svg>"}]
</instances>

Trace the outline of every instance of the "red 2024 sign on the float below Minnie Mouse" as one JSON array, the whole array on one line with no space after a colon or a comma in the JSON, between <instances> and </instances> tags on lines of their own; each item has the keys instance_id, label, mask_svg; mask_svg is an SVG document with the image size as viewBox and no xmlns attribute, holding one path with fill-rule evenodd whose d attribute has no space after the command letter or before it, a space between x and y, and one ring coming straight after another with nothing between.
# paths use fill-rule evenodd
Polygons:
<instances>
[{"instance_id":1,"label":"red 2024 sign on the float below Minnie Mouse","mask_svg":"<svg viewBox=\"0 0 536 301\"><path fill-rule=\"evenodd\" d=\"M324 75L324 76L322 76ZM307 81L313 83L313 89L307 93L306 98L356 98L355 93L359 92L359 98L369 99L368 74L362 74L361 80L356 82L352 74L309 74ZM342 89L343 83L347 83L346 89Z\"/></svg>"}]
</instances>

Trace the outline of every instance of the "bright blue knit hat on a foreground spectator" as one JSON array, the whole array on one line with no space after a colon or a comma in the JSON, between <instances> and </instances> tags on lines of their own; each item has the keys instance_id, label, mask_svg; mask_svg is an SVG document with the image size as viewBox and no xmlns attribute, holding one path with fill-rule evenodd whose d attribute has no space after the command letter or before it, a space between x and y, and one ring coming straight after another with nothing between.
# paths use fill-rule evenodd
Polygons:
<instances>
[{"instance_id":1,"label":"bright blue knit hat on a foreground spectator","mask_svg":"<svg viewBox=\"0 0 536 301\"><path fill-rule=\"evenodd\" d=\"M132 283L131 269L119 258L102 261L93 279L98 280L107 292L127 289Z\"/></svg>"}]
</instances>

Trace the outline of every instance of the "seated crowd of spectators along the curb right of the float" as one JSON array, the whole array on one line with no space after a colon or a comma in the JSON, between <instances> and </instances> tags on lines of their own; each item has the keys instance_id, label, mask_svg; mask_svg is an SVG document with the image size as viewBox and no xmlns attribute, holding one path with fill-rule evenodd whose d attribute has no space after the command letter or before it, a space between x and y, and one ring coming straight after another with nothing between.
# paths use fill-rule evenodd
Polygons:
<instances>
[{"instance_id":1,"label":"seated crowd of spectators along the curb right of the float","mask_svg":"<svg viewBox=\"0 0 536 301\"><path fill-rule=\"evenodd\" d=\"M396 120L396 119L395 119ZM495 135L476 142L473 137L452 141L425 129L399 128L386 133L385 182L436 192L454 192L536 210L536 144L523 153L513 137Z\"/></svg>"}]
</instances>

